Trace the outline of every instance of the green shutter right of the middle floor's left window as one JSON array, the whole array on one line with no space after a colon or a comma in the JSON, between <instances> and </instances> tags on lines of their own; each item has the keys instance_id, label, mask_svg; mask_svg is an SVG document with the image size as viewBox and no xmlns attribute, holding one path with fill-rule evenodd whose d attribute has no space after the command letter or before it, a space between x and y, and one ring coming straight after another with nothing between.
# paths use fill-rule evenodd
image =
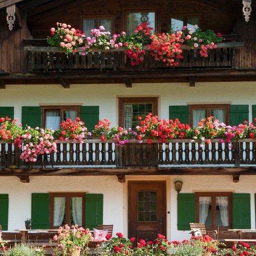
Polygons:
<instances>
[{"instance_id":1,"label":"green shutter right of the middle floor's left window","mask_svg":"<svg viewBox=\"0 0 256 256\"><path fill-rule=\"evenodd\" d=\"M99 121L99 106L82 106L80 118L88 131L92 131Z\"/></svg>"}]
</instances>

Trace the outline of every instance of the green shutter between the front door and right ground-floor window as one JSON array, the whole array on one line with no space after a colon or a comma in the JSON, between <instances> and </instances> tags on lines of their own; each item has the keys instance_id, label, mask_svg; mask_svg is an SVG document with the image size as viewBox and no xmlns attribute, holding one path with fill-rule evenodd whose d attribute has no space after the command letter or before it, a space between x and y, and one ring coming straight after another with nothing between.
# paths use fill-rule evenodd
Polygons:
<instances>
[{"instance_id":1,"label":"green shutter between the front door and right ground-floor window","mask_svg":"<svg viewBox=\"0 0 256 256\"><path fill-rule=\"evenodd\" d=\"M178 230L190 230L190 222L195 222L195 194L178 194Z\"/></svg>"}]
</instances>

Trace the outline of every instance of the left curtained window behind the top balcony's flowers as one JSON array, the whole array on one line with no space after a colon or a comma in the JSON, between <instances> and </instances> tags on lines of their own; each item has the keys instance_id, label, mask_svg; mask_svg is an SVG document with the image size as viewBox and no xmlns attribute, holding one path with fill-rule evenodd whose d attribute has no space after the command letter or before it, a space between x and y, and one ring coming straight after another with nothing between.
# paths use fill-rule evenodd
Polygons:
<instances>
[{"instance_id":1,"label":"left curtained window behind the top balcony's flowers","mask_svg":"<svg viewBox=\"0 0 256 256\"><path fill-rule=\"evenodd\" d=\"M86 36L90 36L92 29L98 29L103 26L105 31L113 33L113 17L112 16L87 16L83 17L83 31Z\"/></svg>"}]
</instances>

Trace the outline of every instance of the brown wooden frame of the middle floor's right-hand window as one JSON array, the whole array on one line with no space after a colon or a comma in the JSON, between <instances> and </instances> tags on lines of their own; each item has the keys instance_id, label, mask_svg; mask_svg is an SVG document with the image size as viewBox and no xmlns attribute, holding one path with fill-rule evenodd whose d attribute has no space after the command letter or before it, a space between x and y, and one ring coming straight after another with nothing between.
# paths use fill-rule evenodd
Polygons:
<instances>
[{"instance_id":1,"label":"brown wooden frame of the middle floor's right-hand window","mask_svg":"<svg viewBox=\"0 0 256 256\"><path fill-rule=\"evenodd\" d=\"M229 125L229 110L230 104L193 104L189 105L189 125L193 127L193 111L196 109L206 109L207 117L211 116L211 109L225 109L225 124ZM195 125L197 126L197 124Z\"/></svg>"}]
</instances>

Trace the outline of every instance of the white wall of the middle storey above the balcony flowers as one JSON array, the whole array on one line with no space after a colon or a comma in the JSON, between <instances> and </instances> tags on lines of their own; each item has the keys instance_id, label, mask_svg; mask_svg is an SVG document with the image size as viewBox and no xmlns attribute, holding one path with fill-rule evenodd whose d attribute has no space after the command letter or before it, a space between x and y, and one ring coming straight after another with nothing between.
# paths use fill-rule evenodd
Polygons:
<instances>
[{"instance_id":1,"label":"white wall of the middle storey above the balcony flowers","mask_svg":"<svg viewBox=\"0 0 256 256\"><path fill-rule=\"evenodd\" d=\"M252 104L256 104L256 82L70 85L7 85L1 90L0 106L14 106L14 116L21 120L21 106L39 104L83 104L99 106L99 117L108 118L117 125L117 98L145 96L159 97L159 117L168 118L170 105L199 103L249 104L249 121L252 119Z\"/></svg>"}]
</instances>

